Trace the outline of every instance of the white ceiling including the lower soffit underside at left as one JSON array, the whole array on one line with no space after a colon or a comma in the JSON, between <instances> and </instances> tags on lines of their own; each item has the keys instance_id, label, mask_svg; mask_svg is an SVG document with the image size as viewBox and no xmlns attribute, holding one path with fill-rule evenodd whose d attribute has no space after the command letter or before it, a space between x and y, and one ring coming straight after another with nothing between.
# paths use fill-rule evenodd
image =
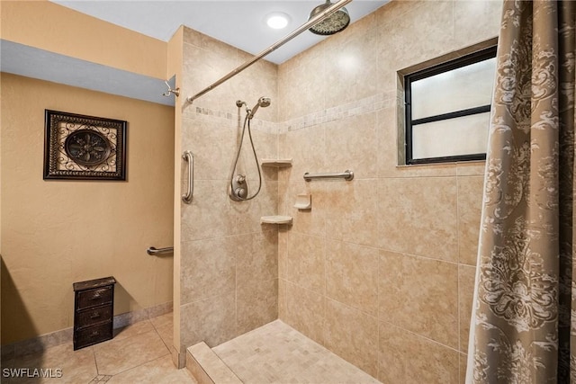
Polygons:
<instances>
[{"instance_id":1,"label":"white ceiling including the lower soffit underside at left","mask_svg":"<svg viewBox=\"0 0 576 384\"><path fill-rule=\"evenodd\" d=\"M311 10L325 0L50 1L163 41L170 40L180 25L185 25L257 55L307 22ZM388 1L354 0L346 8L351 22L356 22ZM290 16L291 21L284 30L275 31L267 27L266 15L273 12L283 12ZM304 31L265 59L281 64L323 39L329 37ZM0 67L5 73L152 103L175 105L174 97L163 95L166 93L165 79L102 66L14 41L0 40ZM174 78L170 80L173 87L174 81Z\"/></svg>"}]
</instances>

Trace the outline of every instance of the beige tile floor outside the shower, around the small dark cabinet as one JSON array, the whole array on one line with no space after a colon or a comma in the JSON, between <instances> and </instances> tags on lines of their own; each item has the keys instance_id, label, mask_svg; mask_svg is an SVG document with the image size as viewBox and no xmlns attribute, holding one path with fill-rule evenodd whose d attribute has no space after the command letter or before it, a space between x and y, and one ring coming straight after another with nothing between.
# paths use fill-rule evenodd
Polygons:
<instances>
[{"instance_id":1,"label":"beige tile floor outside the shower, around the small dark cabinet","mask_svg":"<svg viewBox=\"0 0 576 384\"><path fill-rule=\"evenodd\" d=\"M172 344L172 314L122 328L112 340L77 351L62 344L2 364L2 383L166 383L196 384L186 370L176 370L167 345ZM7 378L6 368L52 370L52 378ZM58 371L61 370L61 377ZM32 375L32 371L29 371Z\"/></svg>"}]
</instances>

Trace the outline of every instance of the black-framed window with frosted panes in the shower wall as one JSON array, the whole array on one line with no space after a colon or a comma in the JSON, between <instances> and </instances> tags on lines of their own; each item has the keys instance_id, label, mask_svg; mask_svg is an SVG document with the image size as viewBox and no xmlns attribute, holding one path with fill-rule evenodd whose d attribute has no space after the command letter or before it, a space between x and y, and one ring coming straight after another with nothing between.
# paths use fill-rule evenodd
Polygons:
<instances>
[{"instance_id":1,"label":"black-framed window with frosted panes in the shower wall","mask_svg":"<svg viewBox=\"0 0 576 384\"><path fill-rule=\"evenodd\" d=\"M404 76L406 164L486 158L496 47Z\"/></svg>"}]
</instances>

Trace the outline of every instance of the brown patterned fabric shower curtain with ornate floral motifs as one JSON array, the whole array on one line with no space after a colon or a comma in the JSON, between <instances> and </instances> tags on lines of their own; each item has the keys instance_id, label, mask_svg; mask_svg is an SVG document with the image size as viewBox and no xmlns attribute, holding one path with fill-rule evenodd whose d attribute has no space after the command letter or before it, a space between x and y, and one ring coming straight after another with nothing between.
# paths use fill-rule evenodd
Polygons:
<instances>
[{"instance_id":1,"label":"brown patterned fabric shower curtain with ornate floral motifs","mask_svg":"<svg viewBox=\"0 0 576 384\"><path fill-rule=\"evenodd\" d=\"M576 383L575 10L504 3L467 383Z\"/></svg>"}]
</instances>

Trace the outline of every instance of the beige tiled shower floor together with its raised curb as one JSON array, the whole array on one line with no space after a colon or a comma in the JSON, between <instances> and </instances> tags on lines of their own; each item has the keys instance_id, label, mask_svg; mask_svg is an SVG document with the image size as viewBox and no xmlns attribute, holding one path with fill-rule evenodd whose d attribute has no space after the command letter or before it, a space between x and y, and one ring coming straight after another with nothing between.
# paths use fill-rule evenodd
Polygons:
<instances>
[{"instance_id":1,"label":"beige tiled shower floor together with its raised curb","mask_svg":"<svg viewBox=\"0 0 576 384\"><path fill-rule=\"evenodd\" d=\"M191 346L186 368L200 384L380 382L281 320L212 349Z\"/></svg>"}]
</instances>

